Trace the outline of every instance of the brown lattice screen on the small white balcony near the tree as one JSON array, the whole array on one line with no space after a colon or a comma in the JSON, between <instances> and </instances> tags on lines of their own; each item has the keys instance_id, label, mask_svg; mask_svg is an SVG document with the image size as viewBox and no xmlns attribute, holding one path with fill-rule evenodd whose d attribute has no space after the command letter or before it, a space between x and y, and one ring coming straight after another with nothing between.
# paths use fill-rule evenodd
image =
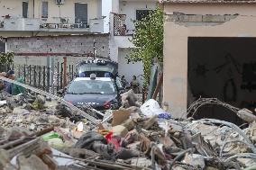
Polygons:
<instances>
[{"instance_id":1,"label":"brown lattice screen on the small white balcony near the tree","mask_svg":"<svg viewBox=\"0 0 256 170\"><path fill-rule=\"evenodd\" d=\"M126 14L114 13L114 36L133 35L134 30L126 28Z\"/></svg>"}]
</instances>

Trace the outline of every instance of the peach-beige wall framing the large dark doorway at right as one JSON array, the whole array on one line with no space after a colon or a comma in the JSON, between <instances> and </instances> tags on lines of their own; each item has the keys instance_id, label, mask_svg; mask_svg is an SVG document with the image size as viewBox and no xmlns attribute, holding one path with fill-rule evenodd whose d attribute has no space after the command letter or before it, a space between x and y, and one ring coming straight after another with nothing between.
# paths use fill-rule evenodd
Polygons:
<instances>
[{"instance_id":1,"label":"peach-beige wall framing the large dark doorway at right","mask_svg":"<svg viewBox=\"0 0 256 170\"><path fill-rule=\"evenodd\" d=\"M187 110L187 37L256 37L255 8L256 4L166 4L167 14L239 14L215 26L165 22L164 101L174 117L185 116Z\"/></svg>"}]
</instances>

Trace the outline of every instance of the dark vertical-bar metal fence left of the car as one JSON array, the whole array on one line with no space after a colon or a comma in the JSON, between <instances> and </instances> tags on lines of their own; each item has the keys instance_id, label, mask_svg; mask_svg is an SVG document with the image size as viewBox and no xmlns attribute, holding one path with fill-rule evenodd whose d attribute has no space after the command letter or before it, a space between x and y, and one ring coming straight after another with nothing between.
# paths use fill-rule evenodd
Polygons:
<instances>
[{"instance_id":1,"label":"dark vertical-bar metal fence left of the car","mask_svg":"<svg viewBox=\"0 0 256 170\"><path fill-rule=\"evenodd\" d=\"M0 72L13 69L16 77L23 76L24 84L56 94L60 89L69 85L69 82L76 76L73 65L67 66L66 71L63 66L64 64L59 62L54 68L33 65L0 65Z\"/></svg>"}]
</instances>

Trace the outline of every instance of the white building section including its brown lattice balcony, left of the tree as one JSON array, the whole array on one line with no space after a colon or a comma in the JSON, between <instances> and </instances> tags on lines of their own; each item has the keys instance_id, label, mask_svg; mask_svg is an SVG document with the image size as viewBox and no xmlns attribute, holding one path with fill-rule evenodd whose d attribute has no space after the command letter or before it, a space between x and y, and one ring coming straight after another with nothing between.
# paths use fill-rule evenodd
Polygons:
<instances>
[{"instance_id":1,"label":"white building section including its brown lattice balcony, left of the tree","mask_svg":"<svg viewBox=\"0 0 256 170\"><path fill-rule=\"evenodd\" d=\"M127 63L126 57L134 48L130 41L134 32L134 21L140 20L151 10L154 10L157 0L113 0L110 14L110 58L118 62L120 76L125 76L128 82L137 76L142 85L142 62Z\"/></svg>"}]
</instances>

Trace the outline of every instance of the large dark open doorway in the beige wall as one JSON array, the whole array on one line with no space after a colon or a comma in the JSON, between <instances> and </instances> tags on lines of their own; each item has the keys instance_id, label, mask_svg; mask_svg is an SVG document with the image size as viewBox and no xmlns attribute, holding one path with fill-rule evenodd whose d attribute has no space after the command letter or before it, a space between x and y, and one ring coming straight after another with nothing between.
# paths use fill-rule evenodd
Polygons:
<instances>
[{"instance_id":1,"label":"large dark open doorway in the beige wall","mask_svg":"<svg viewBox=\"0 0 256 170\"><path fill-rule=\"evenodd\" d=\"M187 104L213 97L238 108L256 108L256 38L189 37L187 44ZM224 107L206 105L197 118L241 124Z\"/></svg>"}]
</instances>

